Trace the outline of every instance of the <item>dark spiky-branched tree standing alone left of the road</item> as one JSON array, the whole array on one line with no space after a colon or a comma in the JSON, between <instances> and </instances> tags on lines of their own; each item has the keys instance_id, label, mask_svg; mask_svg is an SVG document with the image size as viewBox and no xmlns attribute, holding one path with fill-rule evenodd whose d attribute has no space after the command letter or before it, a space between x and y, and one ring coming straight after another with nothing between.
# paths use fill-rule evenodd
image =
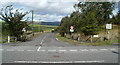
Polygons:
<instances>
[{"instance_id":1,"label":"dark spiky-branched tree standing alone left of the road","mask_svg":"<svg viewBox=\"0 0 120 65\"><path fill-rule=\"evenodd\" d=\"M28 26L27 22L22 21L23 17L28 12L21 12L22 9L14 9L12 5L2 8L0 11L0 19L8 25L9 35L17 38L17 41L22 41L23 28Z\"/></svg>"}]
</instances>

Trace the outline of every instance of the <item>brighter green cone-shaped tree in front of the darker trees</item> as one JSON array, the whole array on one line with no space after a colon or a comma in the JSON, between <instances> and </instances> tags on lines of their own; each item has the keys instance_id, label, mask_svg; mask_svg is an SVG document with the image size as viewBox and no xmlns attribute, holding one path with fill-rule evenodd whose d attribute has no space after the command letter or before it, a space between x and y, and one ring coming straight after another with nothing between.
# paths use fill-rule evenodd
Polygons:
<instances>
[{"instance_id":1,"label":"brighter green cone-shaped tree in front of the darker trees","mask_svg":"<svg viewBox=\"0 0 120 65\"><path fill-rule=\"evenodd\" d=\"M86 25L84 27L81 27L82 32L85 35L98 34L99 27L94 10L88 12L88 14L86 15L86 22Z\"/></svg>"}]
</instances>

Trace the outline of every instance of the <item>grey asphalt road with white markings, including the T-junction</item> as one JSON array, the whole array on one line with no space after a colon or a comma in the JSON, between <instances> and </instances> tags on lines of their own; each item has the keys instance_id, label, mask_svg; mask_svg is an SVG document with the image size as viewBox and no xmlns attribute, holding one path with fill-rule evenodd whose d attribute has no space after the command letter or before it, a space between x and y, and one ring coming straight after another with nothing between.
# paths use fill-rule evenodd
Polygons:
<instances>
[{"instance_id":1,"label":"grey asphalt road with white markings, including the T-junction","mask_svg":"<svg viewBox=\"0 0 120 65\"><path fill-rule=\"evenodd\" d=\"M2 63L118 63L117 46L82 46L45 33L23 43L2 45Z\"/></svg>"}]
</instances>

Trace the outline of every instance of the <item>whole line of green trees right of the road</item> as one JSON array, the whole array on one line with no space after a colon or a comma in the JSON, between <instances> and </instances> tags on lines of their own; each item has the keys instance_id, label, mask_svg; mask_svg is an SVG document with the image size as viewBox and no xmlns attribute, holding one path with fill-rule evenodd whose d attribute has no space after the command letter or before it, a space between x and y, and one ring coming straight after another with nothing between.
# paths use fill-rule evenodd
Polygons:
<instances>
[{"instance_id":1,"label":"whole line of green trees right of the road","mask_svg":"<svg viewBox=\"0 0 120 65\"><path fill-rule=\"evenodd\" d=\"M114 6L113 2L79 2L74 5L76 11L62 18L58 30L64 36L64 33L70 33L70 26L74 26L76 33L82 32L85 36L98 34L106 23L119 23L120 12L114 16Z\"/></svg>"}]
</instances>

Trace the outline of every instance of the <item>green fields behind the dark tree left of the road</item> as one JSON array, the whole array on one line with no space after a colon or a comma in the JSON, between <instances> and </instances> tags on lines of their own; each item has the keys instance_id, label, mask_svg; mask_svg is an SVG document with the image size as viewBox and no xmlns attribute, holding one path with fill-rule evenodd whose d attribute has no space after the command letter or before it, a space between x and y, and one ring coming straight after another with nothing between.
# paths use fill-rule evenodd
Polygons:
<instances>
[{"instance_id":1,"label":"green fields behind the dark tree left of the road","mask_svg":"<svg viewBox=\"0 0 120 65\"><path fill-rule=\"evenodd\" d=\"M2 32L0 32L0 35L1 35L0 43L4 43L4 42L7 42L7 37L8 37L9 32L8 32L8 30L2 28L5 26L4 22L0 22L0 24L1 24L0 31L2 31ZM50 32L52 29L56 29L56 28L57 28L57 26L34 24L34 26L33 26L34 33L38 33L34 37L41 35L41 33L39 33L39 32ZM32 24L30 24L26 30L27 30L26 34L31 35L32 34ZM30 38L33 38L33 37L30 37ZM15 42L15 41L11 41L11 42Z\"/></svg>"}]
</instances>

